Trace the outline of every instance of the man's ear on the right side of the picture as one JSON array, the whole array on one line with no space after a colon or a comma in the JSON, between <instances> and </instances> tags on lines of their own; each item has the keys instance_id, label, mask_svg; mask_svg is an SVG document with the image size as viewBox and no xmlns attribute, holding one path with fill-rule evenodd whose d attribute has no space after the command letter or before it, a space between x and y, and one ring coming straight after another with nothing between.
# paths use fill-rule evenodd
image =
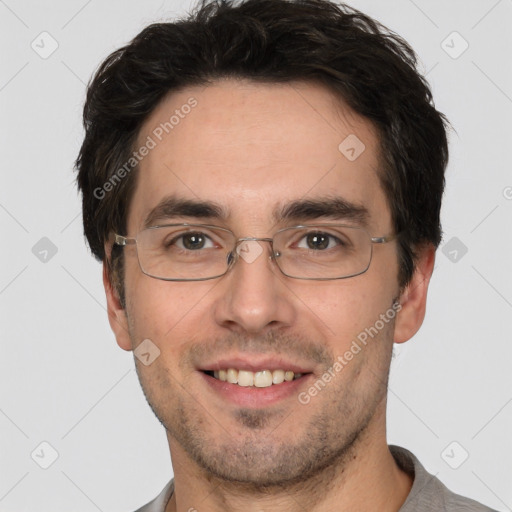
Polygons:
<instances>
[{"instance_id":1,"label":"man's ear on the right side of the picture","mask_svg":"<svg viewBox=\"0 0 512 512\"><path fill-rule=\"evenodd\" d=\"M402 307L396 316L395 343L404 343L411 339L423 323L435 254L436 249L432 244L426 244L418 249L414 274L399 298Z\"/></svg>"}]
</instances>

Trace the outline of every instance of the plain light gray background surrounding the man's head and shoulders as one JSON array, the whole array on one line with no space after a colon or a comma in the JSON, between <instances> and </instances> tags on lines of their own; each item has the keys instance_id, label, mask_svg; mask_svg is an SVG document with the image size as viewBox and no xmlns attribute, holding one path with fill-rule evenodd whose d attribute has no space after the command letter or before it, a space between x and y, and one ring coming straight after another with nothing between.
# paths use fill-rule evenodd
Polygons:
<instances>
[{"instance_id":1,"label":"plain light gray background surrounding the man's head and shoulders","mask_svg":"<svg viewBox=\"0 0 512 512\"><path fill-rule=\"evenodd\" d=\"M456 129L427 318L393 361L389 441L453 490L512 510L512 1L351 4L413 45ZM0 511L129 511L172 475L107 322L72 167L97 65L190 5L0 0ZM31 47L52 40L45 59Z\"/></svg>"}]
</instances>

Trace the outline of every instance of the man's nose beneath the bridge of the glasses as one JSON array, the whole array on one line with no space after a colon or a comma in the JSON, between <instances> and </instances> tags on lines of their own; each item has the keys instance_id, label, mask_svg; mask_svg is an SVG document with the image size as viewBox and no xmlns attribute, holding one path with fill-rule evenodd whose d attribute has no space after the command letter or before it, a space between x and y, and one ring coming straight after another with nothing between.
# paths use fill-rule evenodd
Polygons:
<instances>
[{"instance_id":1,"label":"man's nose beneath the bridge of the glasses","mask_svg":"<svg viewBox=\"0 0 512 512\"><path fill-rule=\"evenodd\" d=\"M263 334L293 324L294 295L272 258L268 239L243 239L219 283L214 306L217 324L239 333ZM228 259L228 263L230 260Z\"/></svg>"}]
</instances>

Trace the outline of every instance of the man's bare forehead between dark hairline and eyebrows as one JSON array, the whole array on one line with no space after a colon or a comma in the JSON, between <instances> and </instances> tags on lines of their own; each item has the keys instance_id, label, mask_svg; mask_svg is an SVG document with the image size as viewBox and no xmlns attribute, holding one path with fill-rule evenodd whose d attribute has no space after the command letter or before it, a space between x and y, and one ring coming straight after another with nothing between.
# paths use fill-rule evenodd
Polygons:
<instances>
[{"instance_id":1,"label":"man's bare forehead between dark hairline and eyebrows","mask_svg":"<svg viewBox=\"0 0 512 512\"><path fill-rule=\"evenodd\" d=\"M170 195L215 201L234 224L255 229L287 202L341 197L384 229L378 143L371 123L312 83L230 79L173 92L139 133L136 147L149 149L129 231Z\"/></svg>"}]
</instances>

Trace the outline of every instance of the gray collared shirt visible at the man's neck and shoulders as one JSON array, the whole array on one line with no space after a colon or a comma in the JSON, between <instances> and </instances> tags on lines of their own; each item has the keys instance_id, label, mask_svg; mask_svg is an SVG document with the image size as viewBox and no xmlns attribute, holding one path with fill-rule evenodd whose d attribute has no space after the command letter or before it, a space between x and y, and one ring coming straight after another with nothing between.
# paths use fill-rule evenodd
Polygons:
<instances>
[{"instance_id":1,"label":"gray collared shirt visible at the man's neck and shoulders","mask_svg":"<svg viewBox=\"0 0 512 512\"><path fill-rule=\"evenodd\" d=\"M405 448L391 445L389 449L400 468L414 478L411 492L398 512L496 512L451 492L438 478L428 473L420 461ZM174 479L153 501L136 512L165 512L173 492Z\"/></svg>"}]
</instances>

